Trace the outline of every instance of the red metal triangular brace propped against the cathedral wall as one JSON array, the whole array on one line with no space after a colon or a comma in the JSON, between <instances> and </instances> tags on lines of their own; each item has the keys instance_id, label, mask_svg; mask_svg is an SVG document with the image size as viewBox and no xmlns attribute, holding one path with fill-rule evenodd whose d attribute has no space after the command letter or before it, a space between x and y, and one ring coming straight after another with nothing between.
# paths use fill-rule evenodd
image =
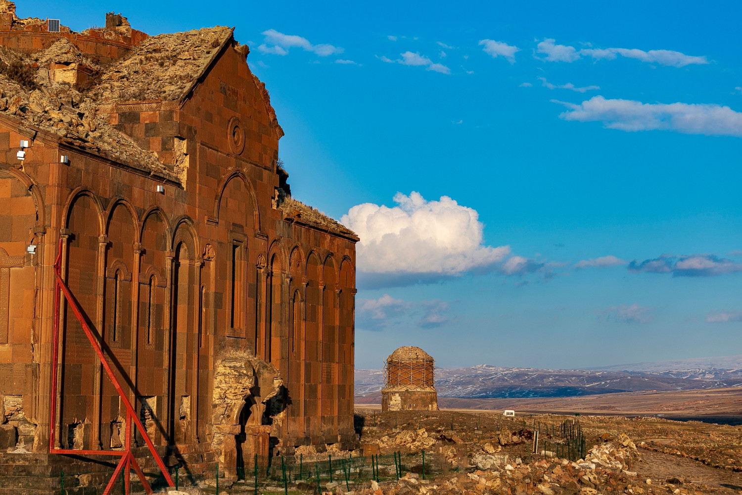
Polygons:
<instances>
[{"instance_id":1,"label":"red metal triangular brace propped against the cathedral wall","mask_svg":"<svg viewBox=\"0 0 742 495\"><path fill-rule=\"evenodd\" d=\"M125 485L125 492L126 495L129 494L130 489L130 478L129 473L131 473L131 470L133 469L135 473L137 473L137 476L139 476L139 480L142 482L142 485L144 486L145 491L148 494L152 493L152 488L150 487L149 483L147 482L147 479L145 478L144 473L142 472L142 468L139 468L139 464L137 463L137 459L134 458L134 454L131 453L131 422L134 421L134 425L137 427L137 430L139 430L139 433L142 435L142 438L145 441L145 444L147 444L147 447L149 448L149 451L154 456L155 462L157 462L157 466L160 467L160 471L162 471L162 476L165 476L165 481L168 483L169 486L174 487L175 484L173 482L173 479L170 477L170 474L168 473L168 469L165 468L165 463L162 462L162 458L157 453L157 450L154 450L154 445L152 444L151 439L149 438L149 435L147 434L147 430L145 430L145 427L142 425L142 422L139 421L139 416L137 415L137 412L134 410L134 407L131 407L131 403L129 402L129 399L126 397L126 394L124 393L124 390L121 388L121 385L119 384L119 381L116 379L116 376L114 376L114 372L111 370L111 366L108 365L108 361L105 358L105 355L103 355L103 351L101 350L98 341L96 341L95 335L93 335L93 332L90 327L88 327L87 322L85 321L85 318L83 318L83 309L80 307L80 305L77 303L75 298L73 298L72 292L70 292L69 287L67 286L67 283L65 283L64 280L62 280L62 240L59 240L59 251L56 255L56 260L54 260L54 273L55 273L55 279L54 279L54 328L53 328L53 344L52 344L52 367L51 367L51 408L50 408L50 419L49 419L49 453L62 453L62 454L77 454L77 455L88 455L88 456L121 456L121 460L119 461L119 464L116 465L116 471L114 471L113 476L111 476L111 479L108 481L108 486L106 486L105 491L103 492L103 495L109 495L111 493L111 489L114 488L114 482L116 482L116 479L119 477L119 474L123 471L124 472L124 485ZM119 398L123 402L125 408L126 408L126 426L125 426L125 433L126 433L126 443L124 450L73 450L73 449L60 449L60 448L54 448L54 429L56 425L56 368L57 368L57 353L59 350L59 292L62 292L62 295L65 296L65 299L67 300L67 303L70 305L70 308L72 309L72 312L75 314L77 321L80 322L80 325L82 325L82 330L85 330L85 335L88 335L88 341L90 341L91 346L93 346L93 350L95 351L96 355L98 355L98 359L100 360L100 363L103 366L103 369L105 370L105 373L108 374L108 378L111 378L111 382L114 384L114 387L116 388L116 392L119 393Z\"/></svg>"}]
</instances>

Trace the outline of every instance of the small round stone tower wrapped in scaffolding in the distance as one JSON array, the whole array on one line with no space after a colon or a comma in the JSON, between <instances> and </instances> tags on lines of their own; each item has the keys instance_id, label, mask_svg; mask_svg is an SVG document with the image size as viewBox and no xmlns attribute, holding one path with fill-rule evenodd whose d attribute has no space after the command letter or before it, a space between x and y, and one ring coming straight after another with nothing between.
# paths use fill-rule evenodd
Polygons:
<instances>
[{"instance_id":1,"label":"small round stone tower wrapped in scaffolding in the distance","mask_svg":"<svg viewBox=\"0 0 742 495\"><path fill-rule=\"evenodd\" d=\"M438 410L436 360L419 347L395 350L384 365L381 410Z\"/></svg>"}]
</instances>

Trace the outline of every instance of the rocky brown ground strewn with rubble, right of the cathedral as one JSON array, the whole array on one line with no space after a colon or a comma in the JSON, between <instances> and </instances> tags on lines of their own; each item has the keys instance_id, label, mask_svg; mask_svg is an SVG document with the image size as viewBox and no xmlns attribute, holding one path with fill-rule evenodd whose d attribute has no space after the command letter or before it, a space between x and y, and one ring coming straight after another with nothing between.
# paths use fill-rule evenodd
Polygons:
<instances>
[{"instance_id":1,"label":"rocky brown ground strewn with rubble, right of the cathedral","mask_svg":"<svg viewBox=\"0 0 742 495\"><path fill-rule=\"evenodd\" d=\"M450 463L435 479L406 473L399 481L357 485L358 495L742 494L742 427L616 416L357 414L364 450L424 449ZM585 435L587 453L576 462L553 453L565 420L579 420ZM534 428L541 433L539 455L531 453Z\"/></svg>"}]
</instances>

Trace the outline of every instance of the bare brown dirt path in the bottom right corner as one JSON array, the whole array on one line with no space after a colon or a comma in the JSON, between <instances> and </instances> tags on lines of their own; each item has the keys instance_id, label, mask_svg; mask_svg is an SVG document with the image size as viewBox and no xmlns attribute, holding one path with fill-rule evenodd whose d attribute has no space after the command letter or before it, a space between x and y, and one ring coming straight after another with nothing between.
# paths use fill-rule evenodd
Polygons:
<instances>
[{"instance_id":1,"label":"bare brown dirt path in the bottom right corner","mask_svg":"<svg viewBox=\"0 0 742 495\"><path fill-rule=\"evenodd\" d=\"M642 462L634 464L640 479L651 478L653 485L666 479L678 478L685 482L703 483L718 489L720 494L742 493L742 473L712 468L693 459L669 456L664 453L641 450Z\"/></svg>"}]
</instances>

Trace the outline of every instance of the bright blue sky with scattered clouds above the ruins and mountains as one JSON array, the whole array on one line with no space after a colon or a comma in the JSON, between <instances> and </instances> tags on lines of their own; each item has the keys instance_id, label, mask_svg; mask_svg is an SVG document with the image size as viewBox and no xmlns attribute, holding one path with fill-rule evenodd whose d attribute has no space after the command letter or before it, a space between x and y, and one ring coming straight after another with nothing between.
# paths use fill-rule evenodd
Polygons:
<instances>
[{"instance_id":1,"label":"bright blue sky with scattered clouds above the ruins and mountains","mask_svg":"<svg viewBox=\"0 0 742 495\"><path fill-rule=\"evenodd\" d=\"M356 365L742 353L735 2L19 3L236 27L292 192L363 235Z\"/></svg>"}]
</instances>

